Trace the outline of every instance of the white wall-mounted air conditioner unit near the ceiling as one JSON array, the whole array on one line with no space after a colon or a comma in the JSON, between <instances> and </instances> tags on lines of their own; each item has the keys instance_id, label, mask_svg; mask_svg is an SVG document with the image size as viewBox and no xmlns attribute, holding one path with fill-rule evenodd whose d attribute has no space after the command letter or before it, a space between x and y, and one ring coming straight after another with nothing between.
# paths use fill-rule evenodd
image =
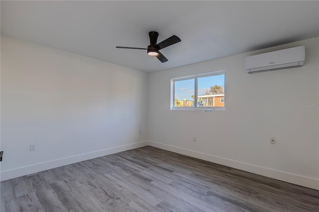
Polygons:
<instances>
[{"instance_id":1,"label":"white wall-mounted air conditioner unit near the ceiling","mask_svg":"<svg viewBox=\"0 0 319 212\"><path fill-rule=\"evenodd\" d=\"M245 58L248 74L301 67L305 63L305 46L257 54Z\"/></svg>"}]
</instances>

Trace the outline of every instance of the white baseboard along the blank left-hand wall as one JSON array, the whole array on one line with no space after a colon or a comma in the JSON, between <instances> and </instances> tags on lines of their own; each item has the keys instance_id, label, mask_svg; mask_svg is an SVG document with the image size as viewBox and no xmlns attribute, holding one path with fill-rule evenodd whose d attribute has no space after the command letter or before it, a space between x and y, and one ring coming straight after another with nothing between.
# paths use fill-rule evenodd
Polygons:
<instances>
[{"instance_id":1,"label":"white baseboard along the blank left-hand wall","mask_svg":"<svg viewBox=\"0 0 319 212\"><path fill-rule=\"evenodd\" d=\"M32 164L29 166L23 166L15 169L5 170L0 172L0 181L9 180L16 177L21 177L24 175L33 174L36 172L41 172L48 169L53 169L60 166L65 166L72 163L77 163L84 160L90 160L92 158L102 157L105 155L114 154L117 152L122 152L130 149L135 149L143 146L147 146L148 141L142 141L133 144L127 144L117 147L112 147L108 149L103 149L95 152L84 153L80 155L74 155L66 158L60 158L57 160L51 160L43 163Z\"/></svg>"}]
</instances>

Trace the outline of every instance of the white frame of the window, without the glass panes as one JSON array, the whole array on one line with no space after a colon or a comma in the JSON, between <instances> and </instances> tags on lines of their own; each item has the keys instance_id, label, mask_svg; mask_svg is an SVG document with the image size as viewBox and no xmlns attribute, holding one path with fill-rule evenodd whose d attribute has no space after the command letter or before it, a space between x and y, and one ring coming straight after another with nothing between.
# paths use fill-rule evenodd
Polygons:
<instances>
[{"instance_id":1,"label":"white frame of the window, without the glass panes","mask_svg":"<svg viewBox=\"0 0 319 212\"><path fill-rule=\"evenodd\" d=\"M198 78L202 77L211 77L216 75L224 75L224 106L212 107L212 106L197 106L197 97L198 97ZM183 80L191 80L194 79L194 106L175 106L175 82L183 81ZM177 77L170 79L170 110L201 110L201 111L218 111L218 110L226 110L226 70L222 71L214 71L204 74L196 74L185 77Z\"/></svg>"}]
</instances>

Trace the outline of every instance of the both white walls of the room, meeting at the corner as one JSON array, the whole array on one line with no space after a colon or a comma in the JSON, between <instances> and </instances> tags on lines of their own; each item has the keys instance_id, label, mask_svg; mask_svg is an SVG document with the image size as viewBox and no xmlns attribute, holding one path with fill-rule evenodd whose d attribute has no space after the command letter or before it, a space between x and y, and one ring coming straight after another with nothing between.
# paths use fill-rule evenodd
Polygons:
<instances>
[{"instance_id":1,"label":"both white walls of the room, meeting at the corner","mask_svg":"<svg viewBox=\"0 0 319 212\"><path fill-rule=\"evenodd\" d=\"M299 45L301 68L244 69L245 56ZM150 144L319 189L319 109L302 107L319 104L318 45L313 38L149 75L1 36L0 178ZM169 110L171 78L218 70L226 70L226 111Z\"/></svg>"}]
</instances>

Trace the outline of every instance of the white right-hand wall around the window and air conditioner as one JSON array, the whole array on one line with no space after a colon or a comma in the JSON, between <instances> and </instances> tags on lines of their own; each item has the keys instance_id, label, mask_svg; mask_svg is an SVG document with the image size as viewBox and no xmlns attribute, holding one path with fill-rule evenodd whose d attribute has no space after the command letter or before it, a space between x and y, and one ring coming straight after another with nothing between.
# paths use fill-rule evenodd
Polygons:
<instances>
[{"instance_id":1,"label":"white right-hand wall around the window and air conditioner","mask_svg":"<svg viewBox=\"0 0 319 212\"><path fill-rule=\"evenodd\" d=\"M152 146L319 189L319 38L149 76ZM301 68L248 74L245 57L306 46ZM170 79L226 70L226 111L171 111ZM192 137L197 142L192 142ZM270 144L276 137L276 144Z\"/></svg>"}]
</instances>

